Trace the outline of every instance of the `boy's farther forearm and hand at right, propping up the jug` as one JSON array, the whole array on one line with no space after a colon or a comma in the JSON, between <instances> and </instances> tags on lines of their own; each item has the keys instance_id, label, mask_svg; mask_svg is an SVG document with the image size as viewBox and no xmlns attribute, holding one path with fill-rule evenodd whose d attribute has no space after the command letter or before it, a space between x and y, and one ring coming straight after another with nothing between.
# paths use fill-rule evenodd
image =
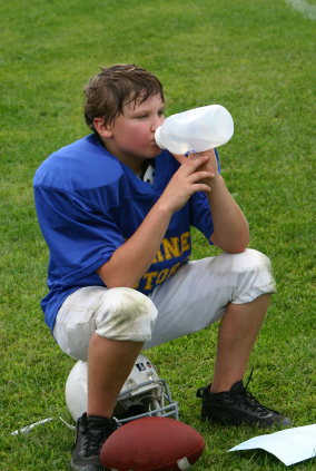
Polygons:
<instances>
[{"instance_id":1,"label":"boy's farther forearm and hand at right, propping up the jug","mask_svg":"<svg viewBox=\"0 0 316 471\"><path fill-rule=\"evenodd\" d=\"M209 156L209 159L198 170L214 174L213 178L203 180L210 188L210 192L206 193L214 225L210 241L224 252L233 254L244 252L249 243L247 219L219 175L215 151L211 149L204 153L189 154L188 158L196 159L203 155ZM185 156L174 156L180 164L185 163Z\"/></svg>"}]
</instances>

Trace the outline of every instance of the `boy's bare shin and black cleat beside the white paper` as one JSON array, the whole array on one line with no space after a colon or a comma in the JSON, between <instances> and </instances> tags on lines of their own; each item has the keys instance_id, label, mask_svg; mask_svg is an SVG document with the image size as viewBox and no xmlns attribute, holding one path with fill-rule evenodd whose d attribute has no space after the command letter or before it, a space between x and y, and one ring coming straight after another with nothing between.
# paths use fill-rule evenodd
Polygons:
<instances>
[{"instance_id":1,"label":"boy's bare shin and black cleat beside the white paper","mask_svg":"<svg viewBox=\"0 0 316 471\"><path fill-rule=\"evenodd\" d=\"M231 425L290 425L292 421L254 398L243 379L270 301L269 294L247 304L229 304L220 322L211 384L200 387L201 420ZM251 375L248 380L250 381Z\"/></svg>"}]
</instances>

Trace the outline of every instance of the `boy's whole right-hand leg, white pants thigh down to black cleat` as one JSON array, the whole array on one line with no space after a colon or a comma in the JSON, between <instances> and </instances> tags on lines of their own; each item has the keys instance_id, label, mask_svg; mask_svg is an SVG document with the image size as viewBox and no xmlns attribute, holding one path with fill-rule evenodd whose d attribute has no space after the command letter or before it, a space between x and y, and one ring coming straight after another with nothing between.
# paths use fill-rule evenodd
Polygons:
<instances>
[{"instance_id":1,"label":"boy's whole right-hand leg, white pants thigh down to black cleat","mask_svg":"<svg viewBox=\"0 0 316 471\"><path fill-rule=\"evenodd\" d=\"M276 284L269 259L257 251L192 262L150 295L158 307L151 347L221 318L213 383L200 387L203 419L230 424L290 424L261 405L243 384L247 362Z\"/></svg>"}]
</instances>

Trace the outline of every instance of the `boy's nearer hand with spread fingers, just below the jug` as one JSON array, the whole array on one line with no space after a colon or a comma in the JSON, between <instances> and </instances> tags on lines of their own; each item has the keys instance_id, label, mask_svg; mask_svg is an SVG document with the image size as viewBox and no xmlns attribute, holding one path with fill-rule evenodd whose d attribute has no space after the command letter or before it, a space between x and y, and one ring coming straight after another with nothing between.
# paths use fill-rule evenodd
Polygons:
<instances>
[{"instance_id":1,"label":"boy's nearer hand with spread fingers, just below the jug","mask_svg":"<svg viewBox=\"0 0 316 471\"><path fill-rule=\"evenodd\" d=\"M159 198L158 204L167 212L176 213L181 209L188 202L190 196L197 192L210 192L210 187L200 180L208 180L215 177L215 174L207 170L199 170L199 167L205 168L205 164L209 160L209 156L194 154L194 158L186 156L175 156L181 164L180 168L170 179L165 192Z\"/></svg>"}]
</instances>

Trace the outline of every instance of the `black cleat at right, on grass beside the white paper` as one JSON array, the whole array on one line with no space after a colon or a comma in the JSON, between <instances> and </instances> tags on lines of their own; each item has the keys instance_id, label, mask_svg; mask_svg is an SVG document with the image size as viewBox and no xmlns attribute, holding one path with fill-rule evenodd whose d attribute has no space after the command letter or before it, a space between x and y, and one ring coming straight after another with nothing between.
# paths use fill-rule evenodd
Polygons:
<instances>
[{"instance_id":1,"label":"black cleat at right, on grass beside the white paper","mask_svg":"<svg viewBox=\"0 0 316 471\"><path fill-rule=\"evenodd\" d=\"M249 381L251 375L249 377ZM253 396L243 381L233 384L229 391L211 393L209 386L200 387L197 398L203 400L201 421L210 421L226 425L290 425L292 421L279 412L260 404Z\"/></svg>"}]
</instances>

